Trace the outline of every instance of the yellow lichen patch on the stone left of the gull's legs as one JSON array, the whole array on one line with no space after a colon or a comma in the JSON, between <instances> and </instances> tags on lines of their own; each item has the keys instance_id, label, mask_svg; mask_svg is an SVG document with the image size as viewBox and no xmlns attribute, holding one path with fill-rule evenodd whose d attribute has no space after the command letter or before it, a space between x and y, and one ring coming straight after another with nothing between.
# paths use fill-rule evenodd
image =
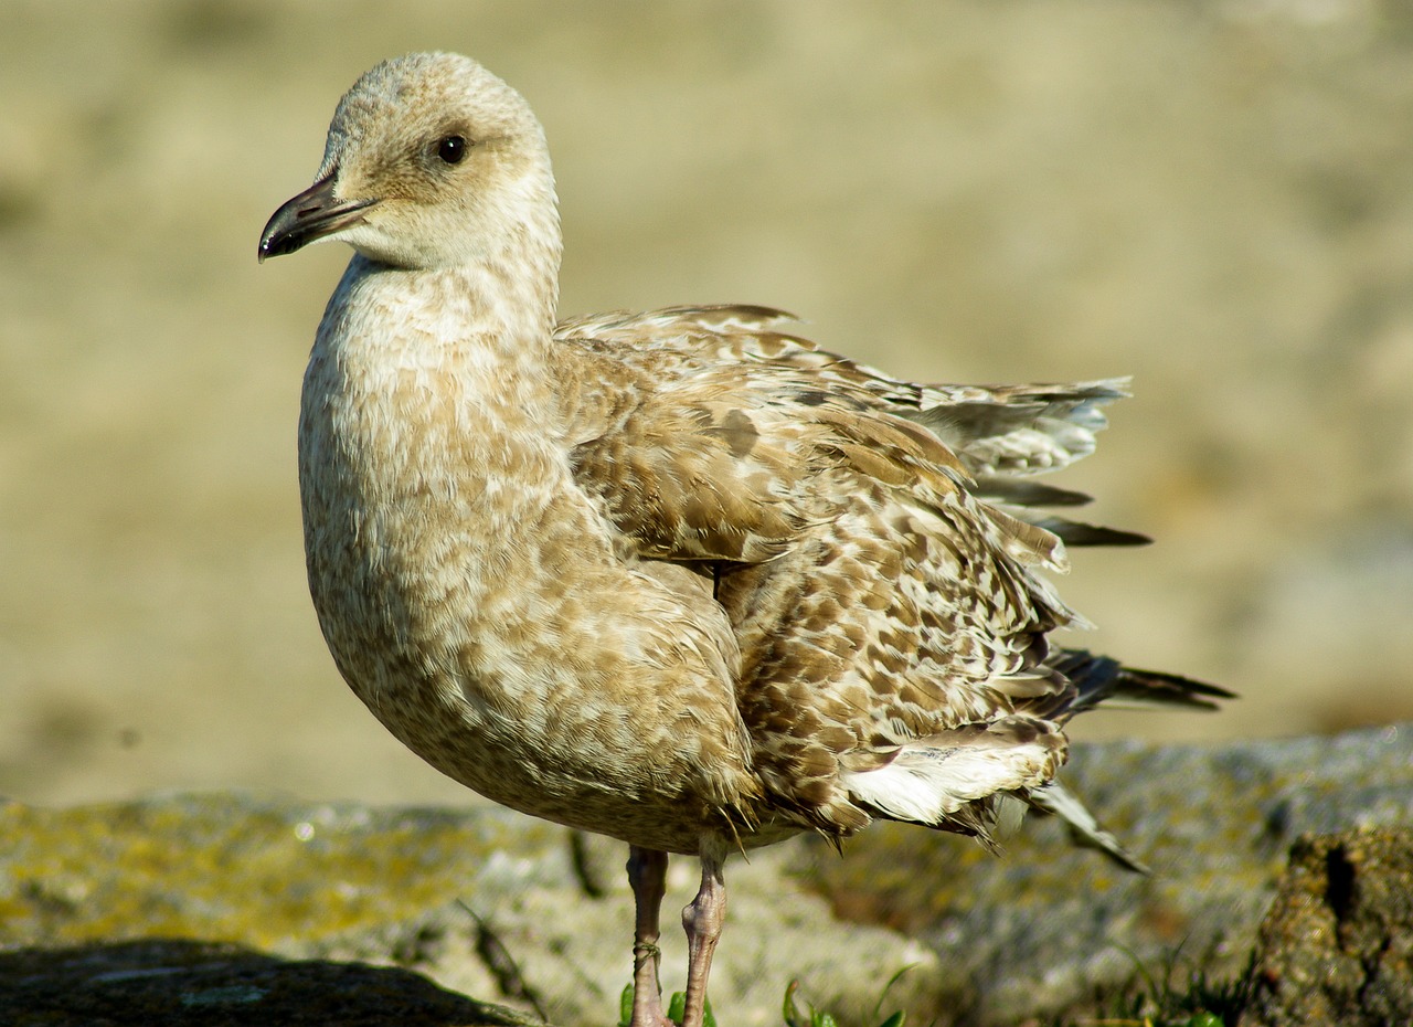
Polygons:
<instances>
[{"instance_id":1,"label":"yellow lichen patch on the stone left of the gull's legs","mask_svg":"<svg viewBox=\"0 0 1413 1027\"><path fill-rule=\"evenodd\" d=\"M0 945L164 937L276 948L396 921L558 832L490 815L199 795L0 808ZM552 835L552 836L551 836Z\"/></svg>"}]
</instances>

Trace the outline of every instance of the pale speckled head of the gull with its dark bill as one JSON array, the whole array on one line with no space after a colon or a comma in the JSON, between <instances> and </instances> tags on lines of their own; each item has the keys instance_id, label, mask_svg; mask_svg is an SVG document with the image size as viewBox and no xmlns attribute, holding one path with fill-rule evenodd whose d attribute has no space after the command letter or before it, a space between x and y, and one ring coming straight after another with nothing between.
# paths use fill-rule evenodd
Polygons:
<instances>
[{"instance_id":1,"label":"pale speckled head of the gull with its dark bill","mask_svg":"<svg viewBox=\"0 0 1413 1027\"><path fill-rule=\"evenodd\" d=\"M410 54L339 100L314 185L260 235L259 259L324 239L401 268L558 249L544 130L514 89L459 54Z\"/></svg>"}]
</instances>

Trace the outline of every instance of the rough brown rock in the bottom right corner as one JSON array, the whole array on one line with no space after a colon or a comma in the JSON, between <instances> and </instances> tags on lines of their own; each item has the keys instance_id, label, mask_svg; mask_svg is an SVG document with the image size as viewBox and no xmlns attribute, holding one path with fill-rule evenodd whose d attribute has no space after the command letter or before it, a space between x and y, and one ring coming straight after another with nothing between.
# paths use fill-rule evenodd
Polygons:
<instances>
[{"instance_id":1,"label":"rough brown rock in the bottom right corner","mask_svg":"<svg viewBox=\"0 0 1413 1027\"><path fill-rule=\"evenodd\" d=\"M1413 829L1300 839L1242 1027L1413 1023Z\"/></svg>"}]
</instances>

